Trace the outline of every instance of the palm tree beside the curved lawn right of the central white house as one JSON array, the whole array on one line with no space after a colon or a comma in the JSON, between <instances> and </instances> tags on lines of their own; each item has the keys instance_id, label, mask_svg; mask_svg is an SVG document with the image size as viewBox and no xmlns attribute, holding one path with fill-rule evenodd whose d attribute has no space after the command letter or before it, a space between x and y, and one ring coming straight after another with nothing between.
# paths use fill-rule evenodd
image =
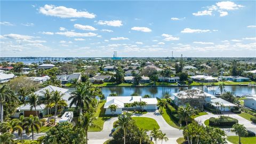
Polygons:
<instances>
[{"instance_id":1,"label":"palm tree beside the curved lawn right of the central white house","mask_svg":"<svg viewBox=\"0 0 256 144\"><path fill-rule=\"evenodd\" d=\"M185 121L186 127L188 127L188 122L196 115L196 111L187 103L186 107L179 107L178 114L180 116L179 123L181 124L182 121Z\"/></svg>"}]
</instances>

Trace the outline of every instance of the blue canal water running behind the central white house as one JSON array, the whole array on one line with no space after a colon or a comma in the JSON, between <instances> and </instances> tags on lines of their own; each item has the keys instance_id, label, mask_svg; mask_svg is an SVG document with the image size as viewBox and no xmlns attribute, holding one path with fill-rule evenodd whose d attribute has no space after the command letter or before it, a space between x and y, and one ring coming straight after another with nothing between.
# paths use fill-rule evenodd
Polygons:
<instances>
[{"instance_id":1,"label":"blue canal water running behind the central white house","mask_svg":"<svg viewBox=\"0 0 256 144\"><path fill-rule=\"evenodd\" d=\"M110 93L117 93L118 96L129 96L132 93L138 93L139 95L149 94L151 97L162 98L165 94L176 93L183 90L189 89L200 89L203 90L203 86L188 86L188 87L174 87L174 86L154 86L154 87L101 87L102 93L107 97ZM68 87L65 89L69 89L69 92L75 90L74 87ZM226 85L224 88L225 91L229 91L235 95L243 95L243 94L256 94L256 86L240 86ZM215 94L219 93L220 90L218 86L208 86L207 93Z\"/></svg>"}]
</instances>

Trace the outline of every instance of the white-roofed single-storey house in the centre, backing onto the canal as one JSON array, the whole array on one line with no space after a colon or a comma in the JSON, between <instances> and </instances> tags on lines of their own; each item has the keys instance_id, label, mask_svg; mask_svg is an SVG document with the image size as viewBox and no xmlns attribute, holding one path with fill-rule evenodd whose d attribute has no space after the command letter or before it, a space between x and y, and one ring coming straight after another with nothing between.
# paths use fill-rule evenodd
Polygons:
<instances>
[{"instance_id":1,"label":"white-roofed single-storey house in the centre, backing onto the canal","mask_svg":"<svg viewBox=\"0 0 256 144\"><path fill-rule=\"evenodd\" d=\"M107 101L104 105L106 109L105 114L110 115L111 110L108 109L110 105L116 105L116 111L114 114L122 114L125 108L125 103L133 103L135 101L145 101L147 105L144 107L145 110L156 110L157 109L157 99L156 98L142 98L141 96L122 96L122 97L107 97ZM139 108L139 106L137 106Z\"/></svg>"}]
</instances>

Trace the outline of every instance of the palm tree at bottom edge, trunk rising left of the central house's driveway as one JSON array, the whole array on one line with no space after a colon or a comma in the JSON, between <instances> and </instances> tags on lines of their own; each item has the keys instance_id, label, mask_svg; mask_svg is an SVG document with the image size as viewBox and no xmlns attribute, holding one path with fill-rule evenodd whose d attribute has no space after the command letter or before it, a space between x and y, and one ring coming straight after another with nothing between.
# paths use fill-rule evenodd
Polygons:
<instances>
[{"instance_id":1,"label":"palm tree at bottom edge, trunk rising left of the central house's driveway","mask_svg":"<svg viewBox=\"0 0 256 144\"><path fill-rule=\"evenodd\" d=\"M84 114L80 115L78 118L79 126L83 127L83 129L85 130L85 135L86 135L85 143L86 144L88 143L87 135L88 135L89 126L97 127L97 125L95 125L93 123L95 120L96 120L96 118L92 114L89 114L89 113L84 113Z\"/></svg>"}]
</instances>

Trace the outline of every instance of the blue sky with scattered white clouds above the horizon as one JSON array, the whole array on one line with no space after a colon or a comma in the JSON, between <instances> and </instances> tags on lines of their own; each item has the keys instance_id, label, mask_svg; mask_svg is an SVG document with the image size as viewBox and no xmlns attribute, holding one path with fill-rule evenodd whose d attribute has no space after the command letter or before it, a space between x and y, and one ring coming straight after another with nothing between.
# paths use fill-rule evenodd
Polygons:
<instances>
[{"instance_id":1,"label":"blue sky with scattered white clouds above the horizon","mask_svg":"<svg viewBox=\"0 0 256 144\"><path fill-rule=\"evenodd\" d=\"M255 1L1 1L1 57L256 57Z\"/></svg>"}]
</instances>

